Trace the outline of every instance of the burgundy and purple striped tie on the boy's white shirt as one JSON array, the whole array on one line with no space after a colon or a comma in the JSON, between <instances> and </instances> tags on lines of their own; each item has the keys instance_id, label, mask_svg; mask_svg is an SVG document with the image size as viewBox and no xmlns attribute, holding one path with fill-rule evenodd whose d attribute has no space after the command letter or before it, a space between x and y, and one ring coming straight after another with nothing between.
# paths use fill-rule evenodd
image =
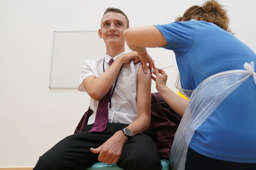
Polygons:
<instances>
[{"instance_id":1,"label":"burgundy and purple striped tie on the boy's white shirt","mask_svg":"<svg viewBox=\"0 0 256 170\"><path fill-rule=\"evenodd\" d=\"M111 66L113 62L114 62L114 59L111 58L109 61L109 66ZM92 129L89 132L93 132L93 131L103 132L106 129L108 119L109 119L108 104L109 104L110 97L111 97L111 88L109 89L108 93L102 99L100 99L98 108L96 111L95 121ZM109 107L111 108L111 105Z\"/></svg>"}]
</instances>

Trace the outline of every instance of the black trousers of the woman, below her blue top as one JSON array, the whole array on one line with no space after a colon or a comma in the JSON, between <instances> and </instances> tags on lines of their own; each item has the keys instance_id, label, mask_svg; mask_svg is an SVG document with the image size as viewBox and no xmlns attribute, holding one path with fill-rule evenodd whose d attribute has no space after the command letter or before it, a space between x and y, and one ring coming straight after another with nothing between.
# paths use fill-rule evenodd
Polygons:
<instances>
[{"instance_id":1,"label":"black trousers of the woman, below her blue top","mask_svg":"<svg viewBox=\"0 0 256 170\"><path fill-rule=\"evenodd\" d=\"M256 163L222 161L201 155L188 148L185 170L249 170L256 169Z\"/></svg>"}]
</instances>

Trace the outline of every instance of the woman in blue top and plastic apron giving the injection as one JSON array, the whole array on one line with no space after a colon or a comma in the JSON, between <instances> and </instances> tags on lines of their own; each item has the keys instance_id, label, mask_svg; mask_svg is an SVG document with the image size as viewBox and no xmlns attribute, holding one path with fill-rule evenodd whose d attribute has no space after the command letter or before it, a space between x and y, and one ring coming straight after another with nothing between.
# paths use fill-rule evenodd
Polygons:
<instances>
[{"instance_id":1,"label":"woman in blue top and plastic apron giving the injection","mask_svg":"<svg viewBox=\"0 0 256 170\"><path fill-rule=\"evenodd\" d=\"M226 10L211 0L191 6L176 22L124 32L144 72L146 63L154 68L145 47L173 50L176 86L191 97L176 95L166 86L166 73L154 68L156 89L183 115L171 151L173 169L256 169L256 55L228 24Z\"/></svg>"}]
</instances>

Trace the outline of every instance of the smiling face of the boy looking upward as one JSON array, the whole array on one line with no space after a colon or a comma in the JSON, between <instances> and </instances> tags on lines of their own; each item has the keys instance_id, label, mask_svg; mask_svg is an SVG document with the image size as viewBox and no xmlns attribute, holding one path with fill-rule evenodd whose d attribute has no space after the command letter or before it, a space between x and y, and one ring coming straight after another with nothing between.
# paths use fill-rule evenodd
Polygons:
<instances>
[{"instance_id":1,"label":"smiling face of the boy looking upward","mask_svg":"<svg viewBox=\"0 0 256 170\"><path fill-rule=\"evenodd\" d=\"M127 29L126 18L117 12L108 12L102 17L98 34L108 46L125 43L123 32Z\"/></svg>"}]
</instances>

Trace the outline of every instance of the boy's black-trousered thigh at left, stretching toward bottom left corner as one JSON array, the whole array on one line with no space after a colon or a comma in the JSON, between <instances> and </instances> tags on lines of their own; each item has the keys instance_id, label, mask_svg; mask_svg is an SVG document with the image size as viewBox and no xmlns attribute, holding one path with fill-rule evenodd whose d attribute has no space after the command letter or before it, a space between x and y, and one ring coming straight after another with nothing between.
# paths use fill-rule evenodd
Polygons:
<instances>
[{"instance_id":1,"label":"boy's black-trousered thigh at left, stretching toward bottom left corner","mask_svg":"<svg viewBox=\"0 0 256 170\"><path fill-rule=\"evenodd\" d=\"M110 137L110 135L93 134L90 132L70 135L43 154L37 164L40 164L40 166L48 164L49 167L76 166L76 169L89 168L92 164L99 162L99 154L92 153L90 148L99 147Z\"/></svg>"}]
</instances>

